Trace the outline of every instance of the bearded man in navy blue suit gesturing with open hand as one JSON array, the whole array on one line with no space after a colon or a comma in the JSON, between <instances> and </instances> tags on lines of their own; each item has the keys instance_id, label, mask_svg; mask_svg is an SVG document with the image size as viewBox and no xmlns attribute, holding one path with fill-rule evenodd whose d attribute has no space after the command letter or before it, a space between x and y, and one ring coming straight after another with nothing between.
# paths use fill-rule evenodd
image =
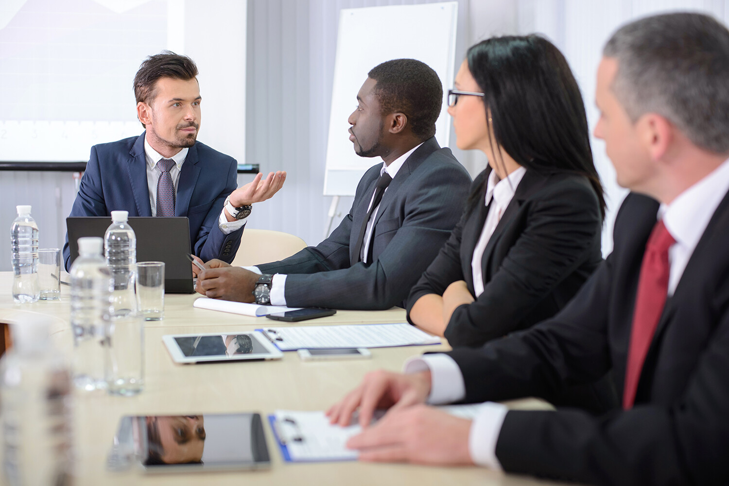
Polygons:
<instances>
[{"instance_id":1,"label":"bearded man in navy blue suit gesturing with open hand","mask_svg":"<svg viewBox=\"0 0 729 486\"><path fill-rule=\"evenodd\" d=\"M285 172L269 173L236 189L238 162L197 141L200 129L198 67L164 51L134 77L137 117L146 130L91 147L70 216L187 216L193 253L232 262L252 204L281 189ZM63 246L71 266L68 235ZM193 266L193 273L196 273Z\"/></svg>"}]
</instances>

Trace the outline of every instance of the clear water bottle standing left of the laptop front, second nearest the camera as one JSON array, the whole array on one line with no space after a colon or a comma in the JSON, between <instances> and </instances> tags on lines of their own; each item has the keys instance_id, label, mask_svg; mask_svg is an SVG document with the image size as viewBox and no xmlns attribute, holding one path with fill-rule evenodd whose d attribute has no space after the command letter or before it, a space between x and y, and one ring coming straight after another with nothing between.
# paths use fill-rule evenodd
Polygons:
<instances>
[{"instance_id":1,"label":"clear water bottle standing left of the laptop front, second nearest the camera","mask_svg":"<svg viewBox=\"0 0 729 486\"><path fill-rule=\"evenodd\" d=\"M87 391L106 388L106 336L111 313L109 267L101 238L79 238L79 257L71 266L71 329L74 332L74 385Z\"/></svg>"}]
</instances>

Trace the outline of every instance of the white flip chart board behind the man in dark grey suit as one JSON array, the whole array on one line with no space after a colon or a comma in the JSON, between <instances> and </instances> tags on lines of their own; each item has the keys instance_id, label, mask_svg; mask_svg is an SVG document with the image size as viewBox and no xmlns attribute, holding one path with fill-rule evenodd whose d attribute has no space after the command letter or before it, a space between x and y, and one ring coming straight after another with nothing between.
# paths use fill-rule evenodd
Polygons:
<instances>
[{"instance_id":1,"label":"white flip chart board behind the man in dark grey suit","mask_svg":"<svg viewBox=\"0 0 729 486\"><path fill-rule=\"evenodd\" d=\"M324 171L325 196L354 196L368 168L381 160L359 157L349 141L347 119L367 73L379 63L399 58L421 60L443 83L443 108L435 123L440 146L448 146L450 117L445 103L453 85L458 2L342 9L332 89L332 111Z\"/></svg>"}]
</instances>

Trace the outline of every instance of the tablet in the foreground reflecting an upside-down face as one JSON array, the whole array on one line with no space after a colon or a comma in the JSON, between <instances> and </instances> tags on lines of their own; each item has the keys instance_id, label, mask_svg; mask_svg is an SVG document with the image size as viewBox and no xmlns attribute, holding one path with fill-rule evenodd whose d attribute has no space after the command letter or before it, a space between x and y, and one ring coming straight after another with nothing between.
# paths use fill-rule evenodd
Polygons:
<instances>
[{"instance_id":1,"label":"tablet in the foreground reflecting an upside-down face","mask_svg":"<svg viewBox=\"0 0 729 486\"><path fill-rule=\"evenodd\" d=\"M270 463L257 413L124 417L112 459L117 466L124 459L141 463L149 472L252 469Z\"/></svg>"}]
</instances>

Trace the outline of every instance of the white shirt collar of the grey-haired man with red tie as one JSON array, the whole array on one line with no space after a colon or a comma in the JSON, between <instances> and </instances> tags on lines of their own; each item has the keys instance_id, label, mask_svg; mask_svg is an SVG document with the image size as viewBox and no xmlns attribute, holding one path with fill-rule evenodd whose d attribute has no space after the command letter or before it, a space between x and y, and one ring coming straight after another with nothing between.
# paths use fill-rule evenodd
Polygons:
<instances>
[{"instance_id":1,"label":"white shirt collar of the grey-haired man with red tie","mask_svg":"<svg viewBox=\"0 0 729 486\"><path fill-rule=\"evenodd\" d=\"M658 219L677 243L695 248L719 203L729 192L729 160L674 199L661 204Z\"/></svg>"}]
</instances>

